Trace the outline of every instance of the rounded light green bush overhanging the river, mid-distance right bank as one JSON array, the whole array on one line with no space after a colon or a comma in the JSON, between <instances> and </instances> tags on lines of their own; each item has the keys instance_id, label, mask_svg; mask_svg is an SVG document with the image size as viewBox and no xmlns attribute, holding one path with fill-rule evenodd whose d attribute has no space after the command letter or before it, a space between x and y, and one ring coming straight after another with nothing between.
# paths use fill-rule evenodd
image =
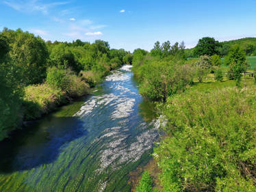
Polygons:
<instances>
[{"instance_id":1,"label":"rounded light green bush overhanging the river, mid-distance right bank","mask_svg":"<svg viewBox=\"0 0 256 192\"><path fill-rule=\"evenodd\" d=\"M154 62L143 69L140 94L151 100L165 101L168 96L184 90L194 77L190 66L179 66L164 61Z\"/></svg>"}]
</instances>

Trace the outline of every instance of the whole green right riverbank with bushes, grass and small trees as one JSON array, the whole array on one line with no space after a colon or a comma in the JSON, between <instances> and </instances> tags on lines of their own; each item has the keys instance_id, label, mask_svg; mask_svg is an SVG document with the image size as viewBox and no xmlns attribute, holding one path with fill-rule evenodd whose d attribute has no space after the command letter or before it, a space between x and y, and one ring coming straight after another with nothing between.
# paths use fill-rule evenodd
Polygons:
<instances>
[{"instance_id":1,"label":"whole green right riverbank with bushes, grass and small trees","mask_svg":"<svg viewBox=\"0 0 256 192\"><path fill-rule=\"evenodd\" d=\"M232 50L227 61L234 63L225 68L208 56L136 53L140 93L158 102L165 122L153 153L155 168L142 174L136 191L256 191L256 84L242 74L245 54L237 46Z\"/></svg>"}]
</instances>

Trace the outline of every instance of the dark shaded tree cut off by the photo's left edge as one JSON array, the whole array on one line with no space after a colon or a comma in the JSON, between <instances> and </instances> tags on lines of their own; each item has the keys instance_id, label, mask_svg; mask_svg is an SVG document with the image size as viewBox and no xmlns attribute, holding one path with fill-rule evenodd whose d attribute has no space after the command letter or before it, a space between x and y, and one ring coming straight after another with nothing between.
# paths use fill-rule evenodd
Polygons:
<instances>
[{"instance_id":1,"label":"dark shaded tree cut off by the photo's left edge","mask_svg":"<svg viewBox=\"0 0 256 192\"><path fill-rule=\"evenodd\" d=\"M12 73L15 66L7 58L9 49L6 38L0 34L0 141L8 137L22 118L22 92L15 82L17 77Z\"/></svg>"}]
</instances>

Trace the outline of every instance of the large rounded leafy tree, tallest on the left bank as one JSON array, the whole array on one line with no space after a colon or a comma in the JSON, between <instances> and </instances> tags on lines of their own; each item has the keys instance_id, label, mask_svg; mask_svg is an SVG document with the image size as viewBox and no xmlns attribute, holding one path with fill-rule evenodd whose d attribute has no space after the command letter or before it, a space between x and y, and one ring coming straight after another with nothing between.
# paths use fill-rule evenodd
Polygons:
<instances>
[{"instance_id":1,"label":"large rounded leafy tree, tallest on the left bank","mask_svg":"<svg viewBox=\"0 0 256 192\"><path fill-rule=\"evenodd\" d=\"M25 85L42 83L46 75L49 53L47 46L39 37L23 32L5 29L1 32L10 42L10 59L21 69L21 83Z\"/></svg>"}]
</instances>

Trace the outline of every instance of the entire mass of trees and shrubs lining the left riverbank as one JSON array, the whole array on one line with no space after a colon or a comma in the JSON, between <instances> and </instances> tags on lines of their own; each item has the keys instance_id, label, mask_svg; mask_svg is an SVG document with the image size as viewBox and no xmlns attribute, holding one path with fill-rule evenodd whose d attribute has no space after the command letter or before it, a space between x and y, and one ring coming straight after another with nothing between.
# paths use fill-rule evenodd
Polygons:
<instances>
[{"instance_id":1,"label":"entire mass of trees and shrubs lining the left riverbank","mask_svg":"<svg viewBox=\"0 0 256 192\"><path fill-rule=\"evenodd\" d=\"M94 43L44 42L39 36L4 28L0 33L0 140L22 120L39 118L57 105L88 94L132 55ZM79 74L79 76L77 76Z\"/></svg>"}]
</instances>

